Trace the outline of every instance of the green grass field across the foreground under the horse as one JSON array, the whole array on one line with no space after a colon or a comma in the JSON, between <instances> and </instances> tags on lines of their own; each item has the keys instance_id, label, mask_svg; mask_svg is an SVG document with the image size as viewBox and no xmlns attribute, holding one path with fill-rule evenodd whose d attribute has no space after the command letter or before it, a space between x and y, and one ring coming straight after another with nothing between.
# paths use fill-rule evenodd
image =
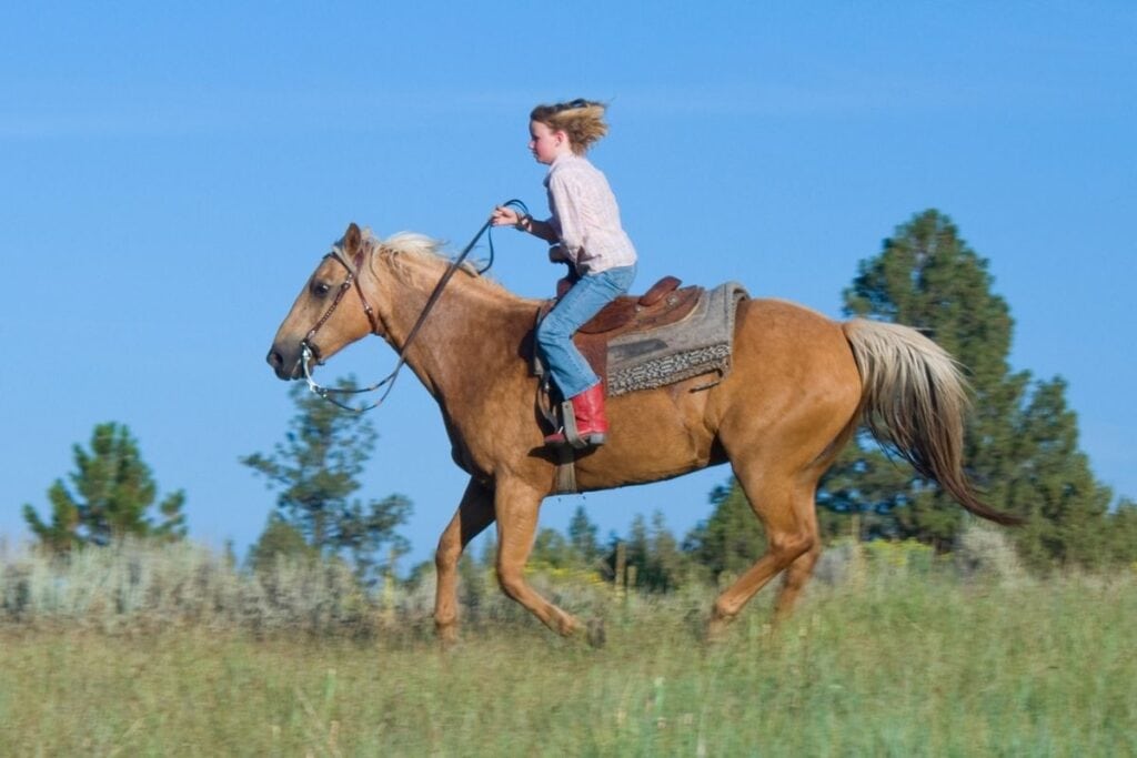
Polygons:
<instances>
[{"instance_id":1,"label":"green grass field across the foreground under the horse","mask_svg":"<svg viewBox=\"0 0 1137 758\"><path fill-rule=\"evenodd\" d=\"M9 625L0 755L1137 755L1137 578L872 570L769 593L706 645L709 593L612 600L592 650L506 614L442 652L179 623Z\"/></svg>"}]
</instances>

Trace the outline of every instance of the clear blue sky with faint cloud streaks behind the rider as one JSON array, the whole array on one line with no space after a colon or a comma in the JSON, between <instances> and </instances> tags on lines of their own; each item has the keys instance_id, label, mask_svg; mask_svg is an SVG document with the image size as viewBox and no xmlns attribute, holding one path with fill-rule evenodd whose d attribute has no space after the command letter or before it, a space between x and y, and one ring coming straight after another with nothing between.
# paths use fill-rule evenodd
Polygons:
<instances>
[{"instance_id":1,"label":"clear blue sky with faint cloud streaks behind the rider","mask_svg":"<svg viewBox=\"0 0 1137 758\"><path fill-rule=\"evenodd\" d=\"M0 534L130 426L191 535L242 552L273 493L238 463L293 408L264 355L356 220L460 249L491 206L543 209L526 115L609 101L592 153L640 283L744 282L833 317L857 263L926 208L990 261L1012 365L1063 376L1097 476L1137 498L1137 6L1129 2L8 3L0 10ZM496 235L493 276L559 272ZM325 370L385 374L377 340ZM465 476L408 375L375 411L368 493L430 557ZM716 468L550 499L603 533L679 535Z\"/></svg>"}]
</instances>

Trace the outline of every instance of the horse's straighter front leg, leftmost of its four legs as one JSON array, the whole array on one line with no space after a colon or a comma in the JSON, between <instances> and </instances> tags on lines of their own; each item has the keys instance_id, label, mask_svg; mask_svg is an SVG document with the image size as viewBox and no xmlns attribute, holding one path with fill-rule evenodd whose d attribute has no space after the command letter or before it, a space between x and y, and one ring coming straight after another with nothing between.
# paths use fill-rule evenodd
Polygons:
<instances>
[{"instance_id":1,"label":"horse's straighter front leg, leftmost of its four legs","mask_svg":"<svg viewBox=\"0 0 1137 758\"><path fill-rule=\"evenodd\" d=\"M442 532L434 553L438 588L434 593L434 628L443 642L458 639L458 559L471 540L493 523L493 488L473 478L466 485L457 513Z\"/></svg>"}]
</instances>

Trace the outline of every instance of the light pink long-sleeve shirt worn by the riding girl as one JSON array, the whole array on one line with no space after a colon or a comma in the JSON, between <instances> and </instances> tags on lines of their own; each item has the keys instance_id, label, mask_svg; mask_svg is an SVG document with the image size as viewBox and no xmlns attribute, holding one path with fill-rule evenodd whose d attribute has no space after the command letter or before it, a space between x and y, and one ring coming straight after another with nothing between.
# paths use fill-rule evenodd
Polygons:
<instances>
[{"instance_id":1,"label":"light pink long-sleeve shirt worn by the riding girl","mask_svg":"<svg viewBox=\"0 0 1137 758\"><path fill-rule=\"evenodd\" d=\"M549 166L548 219L564 253L581 275L636 263L636 248L620 224L620 207L608 180L587 158L571 153Z\"/></svg>"}]
</instances>

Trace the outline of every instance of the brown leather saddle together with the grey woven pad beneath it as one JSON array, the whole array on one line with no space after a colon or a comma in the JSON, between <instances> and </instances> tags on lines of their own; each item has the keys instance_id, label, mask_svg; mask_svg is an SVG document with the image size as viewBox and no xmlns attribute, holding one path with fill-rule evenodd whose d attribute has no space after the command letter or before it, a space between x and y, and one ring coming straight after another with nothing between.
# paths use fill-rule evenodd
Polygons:
<instances>
[{"instance_id":1,"label":"brown leather saddle together with the grey woven pad beneath it","mask_svg":"<svg viewBox=\"0 0 1137 758\"><path fill-rule=\"evenodd\" d=\"M749 297L746 289L737 282L709 291L679 284L666 276L642 297L617 298L573 336L608 397L717 373L709 386L730 370L735 313ZM554 305L542 305L538 322ZM543 374L540 360L534 366Z\"/></svg>"}]
</instances>

